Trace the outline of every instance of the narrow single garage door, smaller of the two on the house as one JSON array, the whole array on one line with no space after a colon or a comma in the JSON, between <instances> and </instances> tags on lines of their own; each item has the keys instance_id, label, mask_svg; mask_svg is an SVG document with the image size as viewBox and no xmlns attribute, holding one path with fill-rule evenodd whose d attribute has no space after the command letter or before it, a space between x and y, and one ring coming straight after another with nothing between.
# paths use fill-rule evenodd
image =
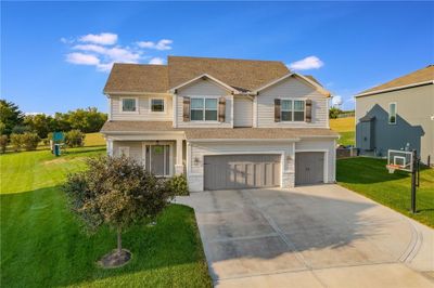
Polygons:
<instances>
[{"instance_id":1,"label":"narrow single garage door, smaller of the two on the house","mask_svg":"<svg viewBox=\"0 0 434 288\"><path fill-rule=\"evenodd\" d=\"M319 184L324 182L324 153L295 153L295 185Z\"/></svg>"}]
</instances>

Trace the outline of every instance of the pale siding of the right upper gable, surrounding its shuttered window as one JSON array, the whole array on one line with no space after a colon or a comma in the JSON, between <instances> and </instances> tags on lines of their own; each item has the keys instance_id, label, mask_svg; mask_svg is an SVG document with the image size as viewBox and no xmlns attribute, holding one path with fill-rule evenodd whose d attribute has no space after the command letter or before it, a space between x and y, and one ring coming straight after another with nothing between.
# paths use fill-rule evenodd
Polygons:
<instances>
[{"instance_id":1,"label":"pale siding of the right upper gable, surrounding its shuttered window","mask_svg":"<svg viewBox=\"0 0 434 288\"><path fill-rule=\"evenodd\" d=\"M310 99L312 101L311 122L275 122L275 99ZM328 127L329 99L310 84L298 78L290 77L282 82L259 92L257 96L258 127Z\"/></svg>"}]
</instances>

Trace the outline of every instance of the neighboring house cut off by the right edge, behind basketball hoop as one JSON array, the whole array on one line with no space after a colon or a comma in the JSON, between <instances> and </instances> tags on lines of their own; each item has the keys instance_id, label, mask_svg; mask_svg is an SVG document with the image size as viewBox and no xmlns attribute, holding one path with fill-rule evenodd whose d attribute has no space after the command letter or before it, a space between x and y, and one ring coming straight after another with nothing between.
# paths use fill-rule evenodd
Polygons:
<instances>
[{"instance_id":1,"label":"neighboring house cut off by the right edge, behind basketball hoop","mask_svg":"<svg viewBox=\"0 0 434 288\"><path fill-rule=\"evenodd\" d=\"M356 95L356 146L380 157L417 149L422 162L433 163L433 65Z\"/></svg>"}]
</instances>

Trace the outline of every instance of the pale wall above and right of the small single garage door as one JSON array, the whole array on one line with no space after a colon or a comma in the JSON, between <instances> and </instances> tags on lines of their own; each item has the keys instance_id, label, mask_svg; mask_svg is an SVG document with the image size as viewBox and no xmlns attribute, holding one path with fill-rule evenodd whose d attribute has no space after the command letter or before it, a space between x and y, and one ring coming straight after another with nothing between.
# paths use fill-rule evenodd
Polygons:
<instances>
[{"instance_id":1,"label":"pale wall above and right of the small single garage door","mask_svg":"<svg viewBox=\"0 0 434 288\"><path fill-rule=\"evenodd\" d=\"M295 143L295 153L297 152L327 152L326 155L326 171L327 183L333 183L335 181L335 148L334 140L321 139L321 140L308 140L304 139Z\"/></svg>"}]
</instances>

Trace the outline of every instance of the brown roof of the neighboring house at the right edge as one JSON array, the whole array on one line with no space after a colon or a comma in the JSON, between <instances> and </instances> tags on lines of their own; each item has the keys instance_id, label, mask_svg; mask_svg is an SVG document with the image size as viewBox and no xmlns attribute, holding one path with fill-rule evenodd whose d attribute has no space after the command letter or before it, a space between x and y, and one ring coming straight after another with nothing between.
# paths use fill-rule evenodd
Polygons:
<instances>
[{"instance_id":1,"label":"brown roof of the neighboring house at the right edge","mask_svg":"<svg viewBox=\"0 0 434 288\"><path fill-rule=\"evenodd\" d=\"M375 92L380 93L380 92L385 92L385 91L392 91L395 89L403 89L403 88L411 87L411 86L418 84L418 83L421 83L421 84L427 83L430 81L431 82L434 81L434 65L429 65L422 69L412 71L410 74L395 78L383 84L365 90L365 91L358 93L356 96L363 96L363 95L375 94Z\"/></svg>"}]
</instances>

